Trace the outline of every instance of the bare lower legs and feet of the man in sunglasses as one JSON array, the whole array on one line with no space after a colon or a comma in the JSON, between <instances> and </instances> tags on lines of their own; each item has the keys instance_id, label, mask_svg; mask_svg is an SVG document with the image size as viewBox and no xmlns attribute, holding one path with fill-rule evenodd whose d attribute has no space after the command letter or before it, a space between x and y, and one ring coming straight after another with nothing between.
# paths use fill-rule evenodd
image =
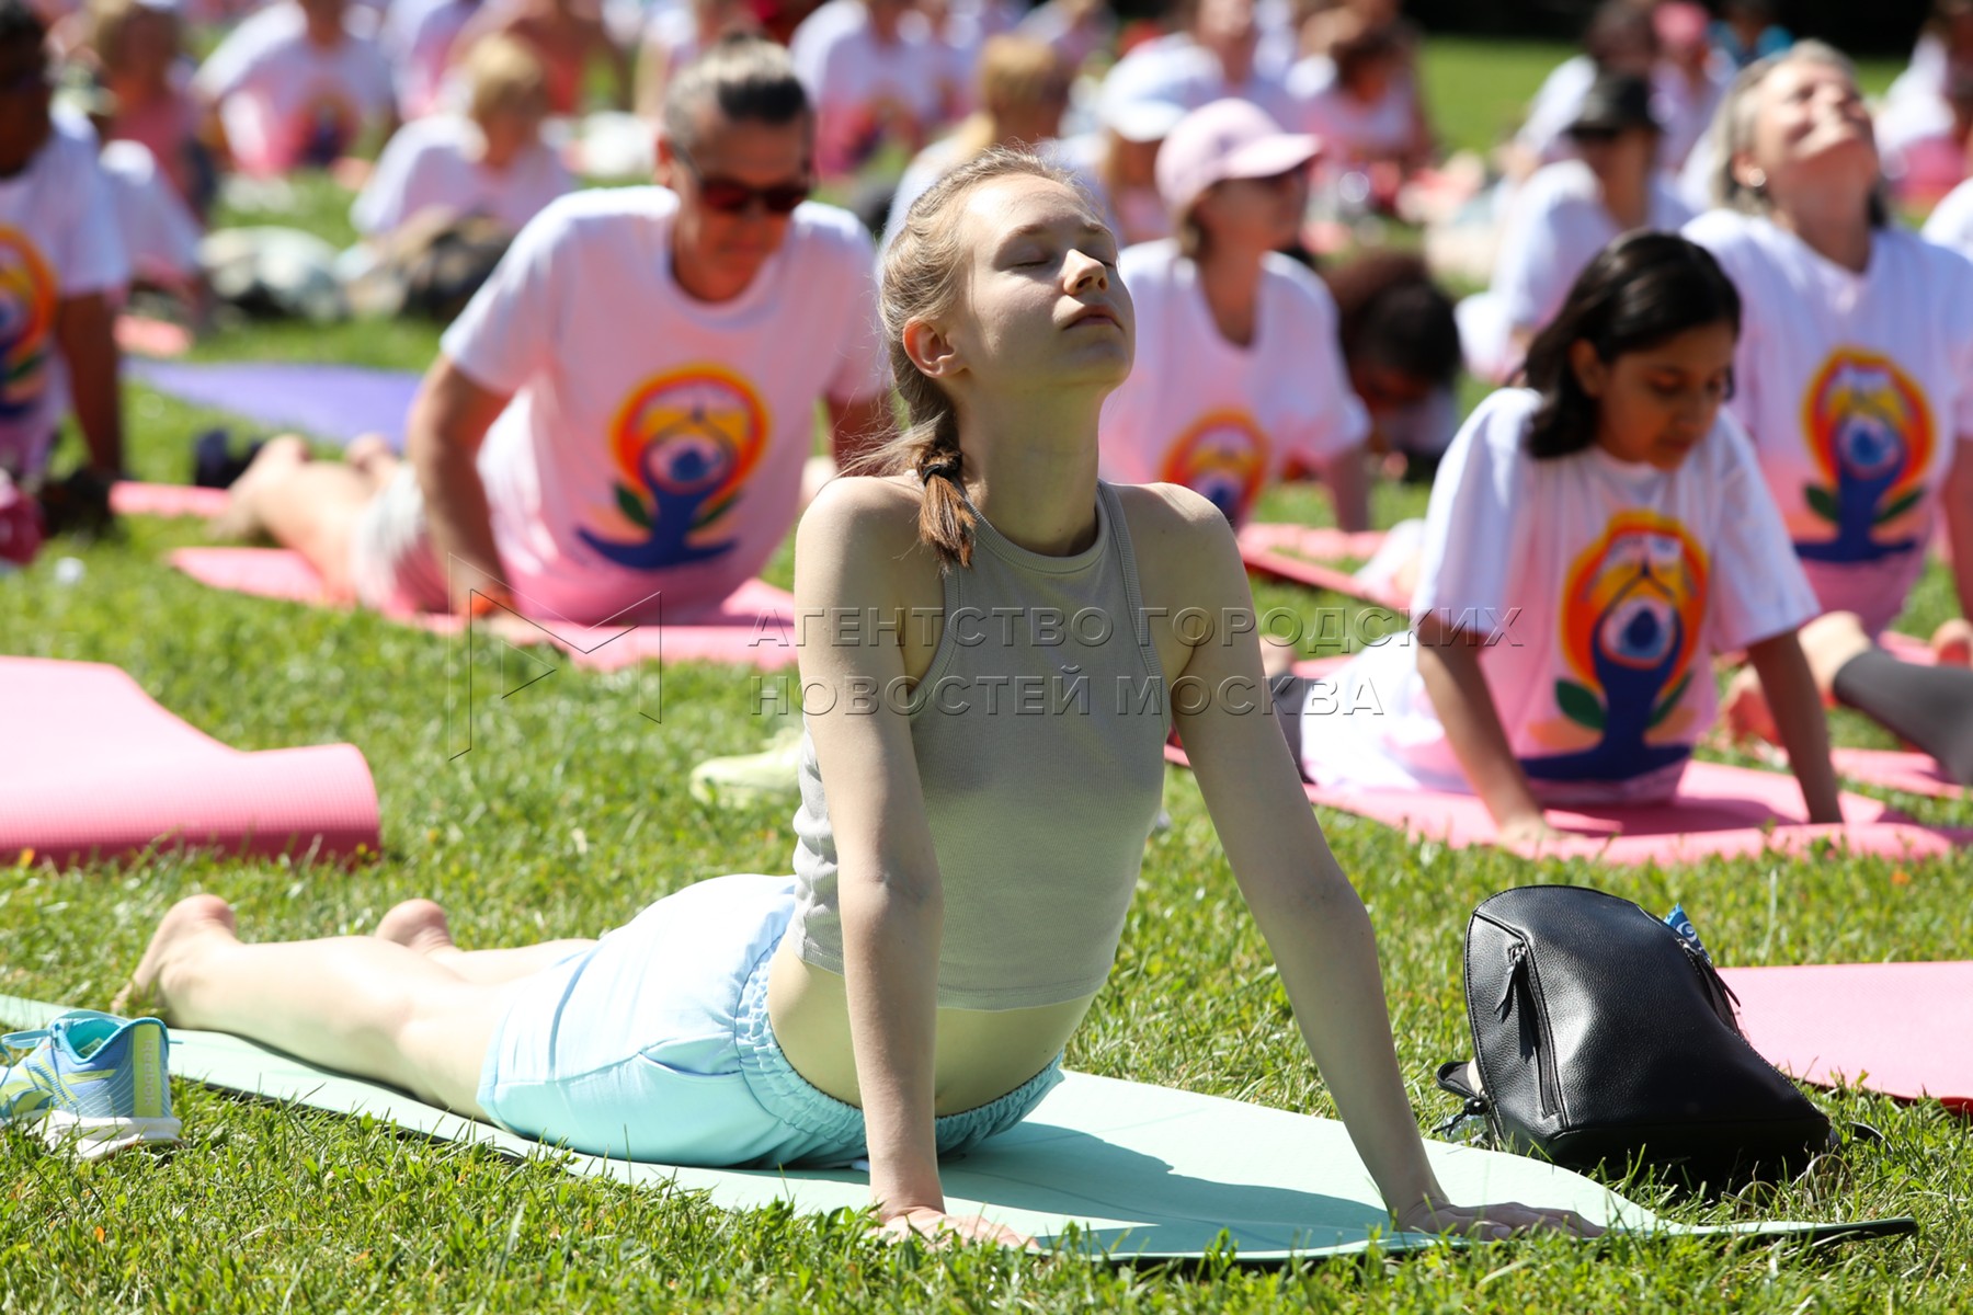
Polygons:
<instances>
[{"instance_id":1,"label":"bare lower legs and feet of the man in sunglasses","mask_svg":"<svg viewBox=\"0 0 1973 1315\"><path fill-rule=\"evenodd\" d=\"M383 455L395 463L389 451ZM308 558L331 597L349 597L349 538L379 487L371 473L345 461L312 461L308 444L282 434L255 453L227 491L227 511L213 520L213 532L266 534Z\"/></svg>"}]
</instances>

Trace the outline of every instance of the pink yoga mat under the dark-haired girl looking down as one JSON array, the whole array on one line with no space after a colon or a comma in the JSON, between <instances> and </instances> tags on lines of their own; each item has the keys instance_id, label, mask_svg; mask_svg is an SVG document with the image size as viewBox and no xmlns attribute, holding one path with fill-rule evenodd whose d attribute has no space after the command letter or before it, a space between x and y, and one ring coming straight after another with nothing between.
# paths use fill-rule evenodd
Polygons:
<instances>
[{"instance_id":1,"label":"pink yoga mat under the dark-haired girl looking down","mask_svg":"<svg viewBox=\"0 0 1973 1315\"><path fill-rule=\"evenodd\" d=\"M1190 767L1184 751L1166 759ZM1499 830L1474 795L1436 791L1338 791L1304 785L1310 802L1395 826L1421 840L1464 850L1498 844ZM1951 854L1961 838L1904 822L1874 798L1843 795L1843 826L1809 826L1793 777L1722 763L1691 763L1669 804L1549 808L1549 826L1571 832L1543 846L1539 858L1592 858L1604 864L1689 864L1709 856L1795 854L1829 840L1851 854L1932 858ZM1527 846L1501 846L1537 858Z\"/></svg>"}]
</instances>

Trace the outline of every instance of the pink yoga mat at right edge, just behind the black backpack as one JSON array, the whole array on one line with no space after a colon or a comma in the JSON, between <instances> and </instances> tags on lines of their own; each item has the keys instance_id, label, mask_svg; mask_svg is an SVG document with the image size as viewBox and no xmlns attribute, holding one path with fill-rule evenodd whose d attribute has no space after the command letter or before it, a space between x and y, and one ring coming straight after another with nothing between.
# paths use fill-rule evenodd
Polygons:
<instances>
[{"instance_id":1,"label":"pink yoga mat at right edge, just behind the black backpack","mask_svg":"<svg viewBox=\"0 0 1973 1315\"><path fill-rule=\"evenodd\" d=\"M1973 1112L1973 964L1724 968L1740 1029L1776 1069L1817 1086Z\"/></svg>"}]
</instances>

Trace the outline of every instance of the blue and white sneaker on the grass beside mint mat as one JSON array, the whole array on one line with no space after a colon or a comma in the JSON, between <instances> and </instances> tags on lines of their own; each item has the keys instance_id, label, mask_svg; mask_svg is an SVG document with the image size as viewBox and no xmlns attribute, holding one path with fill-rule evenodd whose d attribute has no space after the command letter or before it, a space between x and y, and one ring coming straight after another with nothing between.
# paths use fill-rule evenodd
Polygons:
<instances>
[{"instance_id":1,"label":"blue and white sneaker on the grass beside mint mat","mask_svg":"<svg viewBox=\"0 0 1973 1315\"><path fill-rule=\"evenodd\" d=\"M51 1149L73 1147L83 1159L178 1142L162 1021L71 1009L0 1045L28 1051L0 1069L0 1128L34 1130Z\"/></svg>"}]
</instances>

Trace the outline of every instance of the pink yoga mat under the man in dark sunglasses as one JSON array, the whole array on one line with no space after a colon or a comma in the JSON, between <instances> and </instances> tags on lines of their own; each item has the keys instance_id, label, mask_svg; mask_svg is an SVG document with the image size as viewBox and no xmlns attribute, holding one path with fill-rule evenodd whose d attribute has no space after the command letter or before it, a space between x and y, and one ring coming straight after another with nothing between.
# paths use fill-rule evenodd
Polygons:
<instances>
[{"instance_id":1,"label":"pink yoga mat under the man in dark sunglasses","mask_svg":"<svg viewBox=\"0 0 1973 1315\"><path fill-rule=\"evenodd\" d=\"M314 607L333 605L300 552L286 548L180 548L172 566L215 589L280 597ZM744 662L762 670L795 660L795 599L760 580L740 586L712 615L689 625L568 625L541 623L547 639L576 666L618 670L645 658L669 662ZM456 633L454 615L402 613L395 621L434 633Z\"/></svg>"}]
</instances>

